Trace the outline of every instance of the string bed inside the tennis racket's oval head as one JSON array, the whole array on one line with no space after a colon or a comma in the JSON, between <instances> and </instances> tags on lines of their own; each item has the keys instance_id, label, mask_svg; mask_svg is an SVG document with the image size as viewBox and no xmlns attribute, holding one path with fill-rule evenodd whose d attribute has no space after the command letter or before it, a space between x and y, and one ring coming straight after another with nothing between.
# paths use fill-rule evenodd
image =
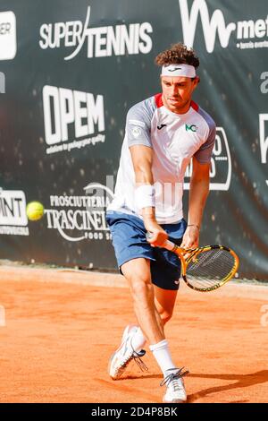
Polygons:
<instances>
[{"instance_id":1,"label":"string bed inside the tennis racket's oval head","mask_svg":"<svg viewBox=\"0 0 268 421\"><path fill-rule=\"evenodd\" d=\"M211 249L198 253L188 263L187 280L197 288L220 284L233 271L235 258L227 250Z\"/></svg>"}]
</instances>

